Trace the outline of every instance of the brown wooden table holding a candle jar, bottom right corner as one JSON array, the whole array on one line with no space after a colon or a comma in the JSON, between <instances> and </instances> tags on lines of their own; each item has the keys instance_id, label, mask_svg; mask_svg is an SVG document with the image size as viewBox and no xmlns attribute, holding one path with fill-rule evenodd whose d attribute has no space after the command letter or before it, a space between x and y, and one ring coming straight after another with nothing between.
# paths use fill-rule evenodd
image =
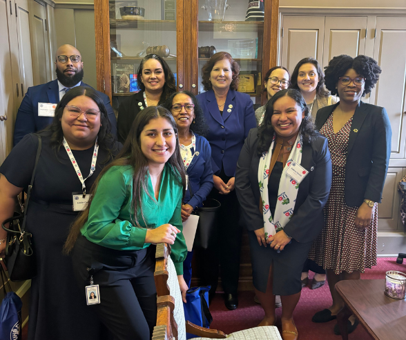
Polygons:
<instances>
[{"instance_id":1,"label":"brown wooden table holding a candle jar, bottom right corner","mask_svg":"<svg viewBox=\"0 0 406 340\"><path fill-rule=\"evenodd\" d=\"M343 340L348 340L347 320L354 314L373 339L406 339L406 301L387 297L385 280L345 280L336 284L345 306L338 313Z\"/></svg>"}]
</instances>

